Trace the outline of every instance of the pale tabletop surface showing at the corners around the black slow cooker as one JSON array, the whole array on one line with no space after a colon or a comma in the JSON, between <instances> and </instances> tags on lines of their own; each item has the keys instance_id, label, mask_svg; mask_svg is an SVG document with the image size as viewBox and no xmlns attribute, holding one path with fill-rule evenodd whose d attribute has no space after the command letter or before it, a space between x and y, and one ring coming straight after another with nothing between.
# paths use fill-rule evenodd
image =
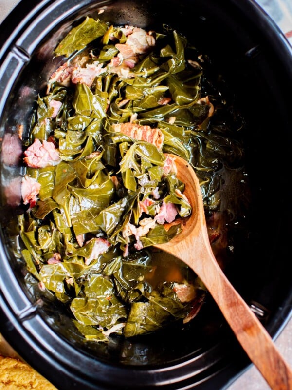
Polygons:
<instances>
[{"instance_id":1,"label":"pale tabletop surface showing at the corners around the black slow cooker","mask_svg":"<svg viewBox=\"0 0 292 390\"><path fill-rule=\"evenodd\" d=\"M18 2L19 0L0 0L0 23ZM257 2L277 23L292 45L292 0L257 0ZM276 338L275 344L288 364L292 367L292 318ZM252 365L236 381L227 386L225 390L269 389L269 386L261 377L256 367Z\"/></svg>"}]
</instances>

